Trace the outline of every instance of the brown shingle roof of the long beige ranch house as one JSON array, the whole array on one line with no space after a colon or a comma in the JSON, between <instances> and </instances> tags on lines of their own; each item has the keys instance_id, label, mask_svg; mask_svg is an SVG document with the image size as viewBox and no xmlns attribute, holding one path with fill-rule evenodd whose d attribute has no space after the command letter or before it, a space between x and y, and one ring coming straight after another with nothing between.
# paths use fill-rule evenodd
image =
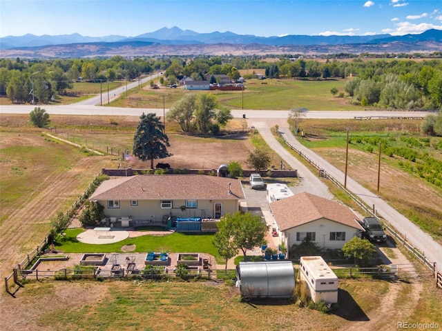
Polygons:
<instances>
[{"instance_id":1,"label":"brown shingle roof of the long beige ranch house","mask_svg":"<svg viewBox=\"0 0 442 331\"><path fill-rule=\"evenodd\" d=\"M230 185L229 185L230 183ZM229 194L229 187L230 192ZM104 181L90 200L244 199L239 179L204 174L138 174Z\"/></svg>"}]
</instances>

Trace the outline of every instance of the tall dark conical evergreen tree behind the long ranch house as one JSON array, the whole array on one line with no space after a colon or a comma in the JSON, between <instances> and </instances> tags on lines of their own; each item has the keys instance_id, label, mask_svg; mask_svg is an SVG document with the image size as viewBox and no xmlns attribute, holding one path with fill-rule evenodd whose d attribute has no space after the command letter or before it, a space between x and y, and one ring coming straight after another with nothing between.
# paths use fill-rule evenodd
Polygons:
<instances>
[{"instance_id":1,"label":"tall dark conical evergreen tree behind the long ranch house","mask_svg":"<svg viewBox=\"0 0 442 331\"><path fill-rule=\"evenodd\" d=\"M142 114L137 132L133 137L133 154L142 161L164 159L172 154L167 152L169 137L164 132L164 124L155 114Z\"/></svg>"}]
</instances>

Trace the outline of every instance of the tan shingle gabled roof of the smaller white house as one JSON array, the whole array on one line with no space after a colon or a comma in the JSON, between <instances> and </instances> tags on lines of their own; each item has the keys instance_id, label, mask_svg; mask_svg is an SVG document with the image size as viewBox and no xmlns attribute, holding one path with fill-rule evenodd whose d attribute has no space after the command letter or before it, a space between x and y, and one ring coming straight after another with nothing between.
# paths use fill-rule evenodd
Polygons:
<instances>
[{"instance_id":1,"label":"tan shingle gabled roof of the smaller white house","mask_svg":"<svg viewBox=\"0 0 442 331\"><path fill-rule=\"evenodd\" d=\"M348 207L307 192L272 202L270 209L282 231L323 218L363 230Z\"/></svg>"}]
</instances>

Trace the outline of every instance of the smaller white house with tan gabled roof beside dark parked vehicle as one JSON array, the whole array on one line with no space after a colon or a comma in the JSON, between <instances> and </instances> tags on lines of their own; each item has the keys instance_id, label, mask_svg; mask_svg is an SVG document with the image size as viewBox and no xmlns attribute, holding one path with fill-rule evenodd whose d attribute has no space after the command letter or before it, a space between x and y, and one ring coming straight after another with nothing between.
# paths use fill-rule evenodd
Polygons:
<instances>
[{"instance_id":1,"label":"smaller white house with tan gabled roof beside dark parked vehicle","mask_svg":"<svg viewBox=\"0 0 442 331\"><path fill-rule=\"evenodd\" d=\"M342 248L364 231L350 208L307 192L269 205L278 236L287 247L308 240L320 248Z\"/></svg>"}]
</instances>

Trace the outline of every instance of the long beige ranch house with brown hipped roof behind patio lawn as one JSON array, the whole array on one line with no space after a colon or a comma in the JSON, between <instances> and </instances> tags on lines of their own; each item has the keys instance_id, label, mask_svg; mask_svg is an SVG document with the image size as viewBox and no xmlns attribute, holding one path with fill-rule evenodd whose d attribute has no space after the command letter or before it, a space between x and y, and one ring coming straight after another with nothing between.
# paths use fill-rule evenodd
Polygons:
<instances>
[{"instance_id":1,"label":"long beige ranch house with brown hipped roof behind patio lawn","mask_svg":"<svg viewBox=\"0 0 442 331\"><path fill-rule=\"evenodd\" d=\"M240 180L202 174L108 179L89 198L104 206L106 217L135 224L169 216L220 219L237 212L240 199L244 199Z\"/></svg>"}]
</instances>

